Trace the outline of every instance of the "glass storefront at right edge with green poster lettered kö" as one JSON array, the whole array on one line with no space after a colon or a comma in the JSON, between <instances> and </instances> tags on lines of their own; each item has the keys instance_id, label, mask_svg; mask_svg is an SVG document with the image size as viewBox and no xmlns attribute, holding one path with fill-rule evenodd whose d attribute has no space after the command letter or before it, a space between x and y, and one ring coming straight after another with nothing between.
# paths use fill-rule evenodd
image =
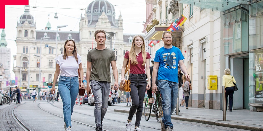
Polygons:
<instances>
[{"instance_id":1,"label":"glass storefront at right edge with green poster lettered k\u00f6","mask_svg":"<svg viewBox=\"0 0 263 131\"><path fill-rule=\"evenodd\" d=\"M249 103L263 104L263 1L249 6Z\"/></svg>"}]
</instances>

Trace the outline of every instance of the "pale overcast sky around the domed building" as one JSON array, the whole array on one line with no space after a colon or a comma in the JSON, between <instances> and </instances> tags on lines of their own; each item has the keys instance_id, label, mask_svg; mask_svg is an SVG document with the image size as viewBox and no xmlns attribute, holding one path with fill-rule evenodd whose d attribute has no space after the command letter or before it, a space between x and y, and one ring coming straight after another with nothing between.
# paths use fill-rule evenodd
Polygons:
<instances>
[{"instance_id":1,"label":"pale overcast sky around the domed building","mask_svg":"<svg viewBox=\"0 0 263 131\"><path fill-rule=\"evenodd\" d=\"M46 23L51 23L51 29L56 30L58 25L68 25L61 28L62 31L78 31L81 14L84 16L87 6L93 0L29 0L30 14L36 22L36 30L44 30ZM144 0L108 0L115 8L116 19L122 15L123 28L125 34L142 34L143 21L146 20L146 4ZM32 8L31 6L38 6ZM44 8L54 7L54 8ZM57 9L71 8L71 9ZM17 22L22 14L24 14L24 6L5 6L5 33L7 39L7 47L11 48L11 78L15 78L13 73L13 55L16 55L16 35ZM54 19L57 12L58 19ZM1 30L2 32L2 30ZM0 32L0 33L1 33Z\"/></svg>"}]
</instances>

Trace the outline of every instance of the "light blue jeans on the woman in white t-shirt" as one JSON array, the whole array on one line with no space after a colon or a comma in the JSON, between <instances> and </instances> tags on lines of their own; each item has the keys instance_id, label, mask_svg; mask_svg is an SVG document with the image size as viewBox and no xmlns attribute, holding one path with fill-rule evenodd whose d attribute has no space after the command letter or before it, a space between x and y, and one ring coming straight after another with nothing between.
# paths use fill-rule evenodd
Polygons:
<instances>
[{"instance_id":1,"label":"light blue jeans on the woman in white t-shirt","mask_svg":"<svg viewBox=\"0 0 263 131\"><path fill-rule=\"evenodd\" d=\"M66 127L72 127L71 115L78 96L78 76L60 76L58 81L58 91L63 102L63 114Z\"/></svg>"}]
</instances>

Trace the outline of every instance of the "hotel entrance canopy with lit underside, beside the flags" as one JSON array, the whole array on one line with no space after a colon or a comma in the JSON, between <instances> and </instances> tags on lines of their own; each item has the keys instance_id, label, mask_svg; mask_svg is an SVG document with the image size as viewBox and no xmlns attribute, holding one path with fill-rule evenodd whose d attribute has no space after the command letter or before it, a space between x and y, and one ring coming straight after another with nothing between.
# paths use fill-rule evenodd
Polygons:
<instances>
[{"instance_id":1,"label":"hotel entrance canopy with lit underside, beside the flags","mask_svg":"<svg viewBox=\"0 0 263 131\"><path fill-rule=\"evenodd\" d=\"M169 26L155 25L147 34L145 35L145 40L162 40L163 32ZM182 32L182 30L177 30L176 32Z\"/></svg>"}]
</instances>

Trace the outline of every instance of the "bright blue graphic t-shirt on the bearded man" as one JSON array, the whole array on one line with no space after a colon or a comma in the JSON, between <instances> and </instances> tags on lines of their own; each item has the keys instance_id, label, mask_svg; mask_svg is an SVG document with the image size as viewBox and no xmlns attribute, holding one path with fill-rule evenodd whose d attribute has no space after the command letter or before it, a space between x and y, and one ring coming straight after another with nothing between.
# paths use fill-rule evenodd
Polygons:
<instances>
[{"instance_id":1,"label":"bright blue graphic t-shirt on the bearded man","mask_svg":"<svg viewBox=\"0 0 263 131\"><path fill-rule=\"evenodd\" d=\"M178 62L185 59L181 50L175 46L171 49L160 48L155 53L154 62L159 62L158 80L178 83Z\"/></svg>"}]
</instances>

